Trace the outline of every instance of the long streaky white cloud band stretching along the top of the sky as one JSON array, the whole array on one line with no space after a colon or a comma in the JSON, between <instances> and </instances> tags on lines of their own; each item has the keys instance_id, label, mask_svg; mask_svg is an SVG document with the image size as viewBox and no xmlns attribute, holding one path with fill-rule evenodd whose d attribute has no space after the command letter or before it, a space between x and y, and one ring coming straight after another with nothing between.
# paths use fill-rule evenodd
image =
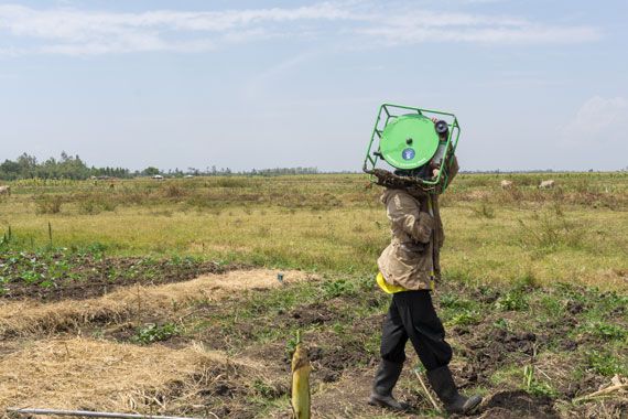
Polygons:
<instances>
[{"instance_id":1,"label":"long streaky white cloud band stretching along the top of the sky","mask_svg":"<svg viewBox=\"0 0 628 419\"><path fill-rule=\"evenodd\" d=\"M396 3L394 3L396 4ZM574 43L599 39L592 26L531 23L520 17L440 13L377 2L322 2L299 8L139 13L0 6L0 53L107 54L198 52L269 37L340 35L354 45L420 42ZM322 23L312 28L312 23ZM366 37L366 40L365 40ZM26 44L28 46L22 46Z\"/></svg>"}]
</instances>

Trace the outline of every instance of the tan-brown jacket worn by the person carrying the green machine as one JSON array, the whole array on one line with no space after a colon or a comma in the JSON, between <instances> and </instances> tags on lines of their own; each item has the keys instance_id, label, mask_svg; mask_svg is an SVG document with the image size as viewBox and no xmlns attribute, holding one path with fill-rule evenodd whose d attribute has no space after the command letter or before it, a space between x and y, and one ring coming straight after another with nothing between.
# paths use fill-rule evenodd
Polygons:
<instances>
[{"instance_id":1,"label":"tan-brown jacket worn by the person carrying the green machine","mask_svg":"<svg viewBox=\"0 0 628 419\"><path fill-rule=\"evenodd\" d=\"M458 171L450 166L450 182ZM429 201L432 201L432 213ZM392 239L377 260L387 282L409 290L429 290L431 280L441 279L440 254L445 240L438 195L421 190L387 189L381 195L390 221Z\"/></svg>"}]
</instances>

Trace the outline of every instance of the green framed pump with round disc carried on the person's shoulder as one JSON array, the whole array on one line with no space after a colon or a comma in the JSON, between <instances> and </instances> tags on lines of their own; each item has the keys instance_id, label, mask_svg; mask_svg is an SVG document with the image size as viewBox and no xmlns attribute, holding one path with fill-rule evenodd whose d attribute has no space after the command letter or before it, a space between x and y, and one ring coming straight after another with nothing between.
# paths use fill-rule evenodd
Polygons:
<instances>
[{"instance_id":1,"label":"green framed pump with round disc carried on the person's shoulder","mask_svg":"<svg viewBox=\"0 0 628 419\"><path fill-rule=\"evenodd\" d=\"M432 118L437 119L436 123ZM448 184L447 168L459 136L454 114L383 104L372 129L364 171L373 182L386 176L430 193L442 193ZM441 168L436 176L429 170L431 164Z\"/></svg>"}]
</instances>

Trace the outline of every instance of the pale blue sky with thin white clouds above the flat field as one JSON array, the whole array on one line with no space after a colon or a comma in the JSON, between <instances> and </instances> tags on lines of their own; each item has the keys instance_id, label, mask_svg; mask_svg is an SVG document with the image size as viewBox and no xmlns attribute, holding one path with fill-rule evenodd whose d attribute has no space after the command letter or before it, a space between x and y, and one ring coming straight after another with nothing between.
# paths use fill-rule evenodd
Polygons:
<instances>
[{"instance_id":1,"label":"pale blue sky with thin white clouds above the flat field","mask_svg":"<svg viewBox=\"0 0 628 419\"><path fill-rule=\"evenodd\" d=\"M0 1L0 161L359 171L382 103L463 170L628 168L627 0Z\"/></svg>"}]
</instances>

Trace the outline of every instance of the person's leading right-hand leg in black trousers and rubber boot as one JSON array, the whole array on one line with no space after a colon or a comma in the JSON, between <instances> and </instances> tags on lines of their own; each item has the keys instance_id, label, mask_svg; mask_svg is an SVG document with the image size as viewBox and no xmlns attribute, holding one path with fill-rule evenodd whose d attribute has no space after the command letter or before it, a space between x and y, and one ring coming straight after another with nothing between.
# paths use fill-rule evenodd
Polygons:
<instances>
[{"instance_id":1,"label":"person's leading right-hand leg in black trousers and rubber boot","mask_svg":"<svg viewBox=\"0 0 628 419\"><path fill-rule=\"evenodd\" d=\"M396 305L412 346L427 369L432 388L451 413L468 413L481 397L466 398L458 394L448 364L452 347L445 341L445 330L438 319L430 291L408 291L396 294Z\"/></svg>"}]
</instances>

